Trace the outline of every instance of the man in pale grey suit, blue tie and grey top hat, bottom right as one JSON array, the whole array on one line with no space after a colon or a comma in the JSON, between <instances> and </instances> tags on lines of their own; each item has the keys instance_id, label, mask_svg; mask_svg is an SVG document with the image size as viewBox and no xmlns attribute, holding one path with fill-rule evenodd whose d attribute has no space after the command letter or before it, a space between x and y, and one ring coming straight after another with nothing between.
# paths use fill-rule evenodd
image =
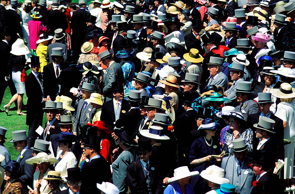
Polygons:
<instances>
[{"instance_id":1,"label":"man in pale grey suit, blue tie and grey top hat, bottom right","mask_svg":"<svg viewBox=\"0 0 295 194\"><path fill-rule=\"evenodd\" d=\"M252 159L247 156L248 146L244 138L232 140L234 155L224 157L221 167L225 171L225 178L230 180L230 184L236 186L235 192L249 194L252 190L254 180L253 169L248 167Z\"/></svg>"}]
</instances>

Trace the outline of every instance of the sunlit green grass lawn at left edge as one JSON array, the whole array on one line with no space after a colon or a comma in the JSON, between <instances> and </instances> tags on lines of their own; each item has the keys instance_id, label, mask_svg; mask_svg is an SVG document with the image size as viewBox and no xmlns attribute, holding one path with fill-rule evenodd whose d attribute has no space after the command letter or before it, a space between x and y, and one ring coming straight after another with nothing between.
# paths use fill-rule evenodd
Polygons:
<instances>
[{"instance_id":1,"label":"sunlit green grass lawn at left edge","mask_svg":"<svg viewBox=\"0 0 295 194\"><path fill-rule=\"evenodd\" d=\"M31 72L31 70L27 71L27 74L29 74ZM28 126L26 125L26 118L27 116L23 116L23 115L17 115L17 109L14 105L14 103L11 105L10 110L8 112L8 116L6 115L6 113L4 112L4 105L6 105L7 103L9 103L11 99L11 94L10 94L10 90L7 87L4 93L4 97L0 106L0 126L3 126L5 128L7 128L7 132L5 137L7 138L6 142L5 142L5 146L7 147L10 155L11 155L11 159L12 160L16 160L19 152L17 152L14 147L13 147L13 143L10 143L9 141L12 139L12 131L17 131L17 130L26 130L28 131ZM27 96L26 94L24 94L24 104L27 104ZM24 111L25 113L26 111ZM43 117L43 124L42 126L44 126L46 120L45 115Z\"/></svg>"}]
</instances>

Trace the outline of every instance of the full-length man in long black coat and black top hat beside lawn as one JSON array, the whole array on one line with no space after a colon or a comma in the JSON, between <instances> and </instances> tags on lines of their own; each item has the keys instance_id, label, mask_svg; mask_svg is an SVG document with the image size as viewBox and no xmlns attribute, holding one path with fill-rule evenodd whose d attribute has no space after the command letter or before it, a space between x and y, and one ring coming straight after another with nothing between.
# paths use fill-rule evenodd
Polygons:
<instances>
[{"instance_id":1,"label":"full-length man in long black coat and black top hat beside lawn","mask_svg":"<svg viewBox=\"0 0 295 194\"><path fill-rule=\"evenodd\" d=\"M29 126L28 137L29 146L33 147L37 139L36 129L42 126L44 111L47 98L44 98L42 75L39 75L40 61L38 56L31 57L32 72L25 79L27 101L27 121Z\"/></svg>"}]
</instances>

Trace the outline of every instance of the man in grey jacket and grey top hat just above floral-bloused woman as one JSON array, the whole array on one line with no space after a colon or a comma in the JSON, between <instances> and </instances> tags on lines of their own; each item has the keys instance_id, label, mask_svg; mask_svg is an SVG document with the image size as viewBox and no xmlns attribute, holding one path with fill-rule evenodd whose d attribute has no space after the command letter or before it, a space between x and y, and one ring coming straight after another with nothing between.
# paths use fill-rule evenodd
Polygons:
<instances>
[{"instance_id":1,"label":"man in grey jacket and grey top hat just above floral-bloused woman","mask_svg":"<svg viewBox=\"0 0 295 194\"><path fill-rule=\"evenodd\" d=\"M239 81L234 91L236 92L237 102L240 103L240 105L235 107L235 110L242 113L244 119L247 121L250 114L259 112L257 103L250 98L251 93L253 93L251 91L251 82Z\"/></svg>"}]
</instances>

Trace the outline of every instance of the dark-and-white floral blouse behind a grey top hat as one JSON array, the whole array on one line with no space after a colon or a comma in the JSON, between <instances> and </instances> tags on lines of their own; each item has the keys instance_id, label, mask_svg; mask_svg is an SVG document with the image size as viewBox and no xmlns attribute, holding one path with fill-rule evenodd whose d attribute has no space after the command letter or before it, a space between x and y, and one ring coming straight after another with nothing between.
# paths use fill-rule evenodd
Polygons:
<instances>
[{"instance_id":1,"label":"dark-and-white floral blouse behind a grey top hat","mask_svg":"<svg viewBox=\"0 0 295 194\"><path fill-rule=\"evenodd\" d=\"M240 130L240 138L245 138L246 145L248 145L248 156L251 156L251 153L253 151L253 131L252 129L241 129ZM227 156L232 156L233 155L233 145L232 145L232 139L233 139L233 130L228 129L225 132L225 143L223 146L223 149L225 153L227 153Z\"/></svg>"}]
</instances>

